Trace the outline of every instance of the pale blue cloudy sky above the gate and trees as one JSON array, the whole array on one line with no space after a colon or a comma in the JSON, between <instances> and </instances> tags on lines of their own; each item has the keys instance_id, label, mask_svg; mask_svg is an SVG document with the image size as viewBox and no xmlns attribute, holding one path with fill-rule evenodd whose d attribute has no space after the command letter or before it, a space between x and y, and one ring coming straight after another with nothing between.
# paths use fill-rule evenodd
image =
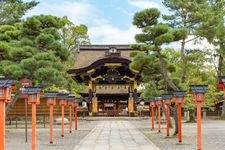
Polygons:
<instances>
[{"instance_id":1,"label":"pale blue cloudy sky above the gate and trees","mask_svg":"<svg viewBox=\"0 0 225 150\"><path fill-rule=\"evenodd\" d=\"M29 1L29 0L24 0ZM158 8L168 13L163 0L36 0L40 3L28 11L26 16L51 14L67 16L75 25L85 24L91 44L132 44L134 36L140 32L132 25L136 12L145 8ZM190 48L202 48L206 41ZM179 47L173 43L172 47ZM207 45L208 46L208 45Z\"/></svg>"}]
</instances>

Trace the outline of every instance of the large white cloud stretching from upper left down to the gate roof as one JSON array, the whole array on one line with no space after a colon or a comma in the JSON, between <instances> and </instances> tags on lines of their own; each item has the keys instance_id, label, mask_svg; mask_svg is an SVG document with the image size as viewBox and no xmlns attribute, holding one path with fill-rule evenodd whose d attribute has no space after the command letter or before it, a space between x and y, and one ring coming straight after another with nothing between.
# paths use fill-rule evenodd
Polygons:
<instances>
[{"instance_id":1,"label":"large white cloud stretching from upper left down to the gate roof","mask_svg":"<svg viewBox=\"0 0 225 150\"><path fill-rule=\"evenodd\" d=\"M135 42L134 36L138 33L138 29L132 25L127 29L121 29L109 23L94 6L87 2L41 1L27 13L26 17L39 14L68 16L75 24L86 24L92 44L130 44Z\"/></svg>"}]
</instances>

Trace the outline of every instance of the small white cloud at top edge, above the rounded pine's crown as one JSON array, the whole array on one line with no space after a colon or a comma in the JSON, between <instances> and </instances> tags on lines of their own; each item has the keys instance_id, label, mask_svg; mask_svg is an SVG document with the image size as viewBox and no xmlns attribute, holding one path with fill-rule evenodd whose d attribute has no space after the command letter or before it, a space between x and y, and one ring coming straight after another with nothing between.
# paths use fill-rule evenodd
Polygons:
<instances>
[{"instance_id":1,"label":"small white cloud at top edge, above the rounded pine's crown","mask_svg":"<svg viewBox=\"0 0 225 150\"><path fill-rule=\"evenodd\" d=\"M150 2L149 0L128 0L128 3L141 9L160 7L158 3Z\"/></svg>"}]
</instances>

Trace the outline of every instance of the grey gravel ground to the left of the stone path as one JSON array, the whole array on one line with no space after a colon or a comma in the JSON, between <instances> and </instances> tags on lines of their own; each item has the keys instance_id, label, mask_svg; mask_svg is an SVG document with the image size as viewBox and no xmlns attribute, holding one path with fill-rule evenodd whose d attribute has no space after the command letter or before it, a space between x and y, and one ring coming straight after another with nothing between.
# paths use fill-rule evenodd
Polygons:
<instances>
[{"instance_id":1,"label":"grey gravel ground to the left of the stone path","mask_svg":"<svg viewBox=\"0 0 225 150\"><path fill-rule=\"evenodd\" d=\"M37 127L37 150L72 150L96 125L96 121L80 120L78 130L69 133L69 126L65 126L65 137L61 137L61 126L54 125L54 144L49 144L49 127ZM28 127L28 142L25 143L25 131L22 125L19 128L7 126L6 150L30 150L31 127Z\"/></svg>"}]
</instances>

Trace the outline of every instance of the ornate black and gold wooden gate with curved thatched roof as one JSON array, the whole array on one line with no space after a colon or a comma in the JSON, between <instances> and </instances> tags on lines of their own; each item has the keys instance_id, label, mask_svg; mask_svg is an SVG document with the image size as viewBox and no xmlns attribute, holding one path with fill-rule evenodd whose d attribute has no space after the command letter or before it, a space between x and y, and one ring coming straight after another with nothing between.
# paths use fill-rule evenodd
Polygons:
<instances>
[{"instance_id":1,"label":"ornate black and gold wooden gate with curved thatched roof","mask_svg":"<svg viewBox=\"0 0 225 150\"><path fill-rule=\"evenodd\" d=\"M138 71L129 69L129 45L82 45L68 73L85 84L80 94L93 115L130 115L136 109Z\"/></svg>"}]
</instances>

